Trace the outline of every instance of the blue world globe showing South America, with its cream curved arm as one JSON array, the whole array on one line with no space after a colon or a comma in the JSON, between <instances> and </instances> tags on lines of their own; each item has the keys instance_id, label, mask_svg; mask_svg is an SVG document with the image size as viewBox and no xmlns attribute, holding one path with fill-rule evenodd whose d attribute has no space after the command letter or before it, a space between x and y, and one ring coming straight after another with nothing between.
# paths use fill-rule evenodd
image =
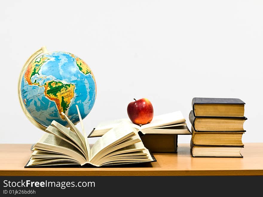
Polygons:
<instances>
[{"instance_id":1,"label":"blue world globe showing South America, with its cream curved arm","mask_svg":"<svg viewBox=\"0 0 263 197\"><path fill-rule=\"evenodd\" d=\"M68 126L85 118L96 99L97 86L88 64L69 52L47 52L45 47L26 62L19 79L19 100L27 118L45 130L53 120Z\"/></svg>"}]
</instances>

